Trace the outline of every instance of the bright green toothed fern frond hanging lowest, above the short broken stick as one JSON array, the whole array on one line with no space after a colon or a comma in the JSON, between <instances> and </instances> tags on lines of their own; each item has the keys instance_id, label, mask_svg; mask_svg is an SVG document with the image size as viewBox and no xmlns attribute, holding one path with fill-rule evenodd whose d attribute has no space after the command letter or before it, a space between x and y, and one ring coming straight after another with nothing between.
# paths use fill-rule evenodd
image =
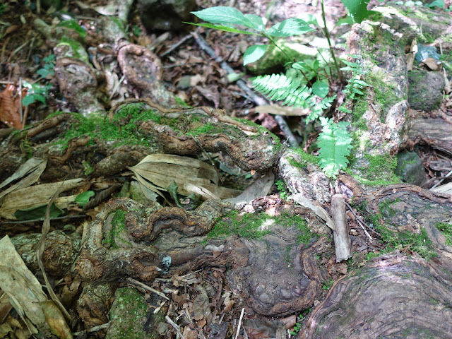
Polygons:
<instances>
[{"instance_id":1,"label":"bright green toothed fern frond hanging lowest, above the short broken stick","mask_svg":"<svg viewBox=\"0 0 452 339\"><path fill-rule=\"evenodd\" d=\"M344 121L333 123L333 119L320 118L323 129L319 135L319 165L328 177L335 178L340 169L347 167L352 138Z\"/></svg>"}]
</instances>

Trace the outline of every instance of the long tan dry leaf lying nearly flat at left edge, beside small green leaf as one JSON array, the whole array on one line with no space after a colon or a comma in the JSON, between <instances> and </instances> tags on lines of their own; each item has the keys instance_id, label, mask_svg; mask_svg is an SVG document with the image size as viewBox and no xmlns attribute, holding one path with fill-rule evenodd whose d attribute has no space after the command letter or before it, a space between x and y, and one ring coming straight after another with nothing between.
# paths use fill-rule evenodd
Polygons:
<instances>
[{"instance_id":1,"label":"long tan dry leaf lying nearly flat at left edge, beside small green leaf","mask_svg":"<svg viewBox=\"0 0 452 339\"><path fill-rule=\"evenodd\" d=\"M75 189L84 183L84 179L81 178L66 180L63 184L63 191ZM30 186L9 193L6 196L3 205L1 205L0 216L8 220L16 220L16 217L14 216L16 210L23 210L25 208L32 208L48 203L59 186L61 186L61 182L54 182L52 184ZM55 203L57 203L60 208L67 208L69 203L72 203L75 198L75 195L63 196L57 198Z\"/></svg>"}]
</instances>

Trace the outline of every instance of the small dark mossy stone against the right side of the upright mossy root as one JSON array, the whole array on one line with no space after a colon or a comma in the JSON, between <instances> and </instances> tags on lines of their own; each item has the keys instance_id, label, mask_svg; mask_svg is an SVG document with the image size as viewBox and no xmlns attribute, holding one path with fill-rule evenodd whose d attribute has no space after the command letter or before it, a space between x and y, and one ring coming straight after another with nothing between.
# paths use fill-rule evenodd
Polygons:
<instances>
[{"instance_id":1,"label":"small dark mossy stone against the right side of the upright mossy root","mask_svg":"<svg viewBox=\"0 0 452 339\"><path fill-rule=\"evenodd\" d=\"M395 173L408 184L419 186L425 179L424 165L415 152L398 153Z\"/></svg>"}]
</instances>

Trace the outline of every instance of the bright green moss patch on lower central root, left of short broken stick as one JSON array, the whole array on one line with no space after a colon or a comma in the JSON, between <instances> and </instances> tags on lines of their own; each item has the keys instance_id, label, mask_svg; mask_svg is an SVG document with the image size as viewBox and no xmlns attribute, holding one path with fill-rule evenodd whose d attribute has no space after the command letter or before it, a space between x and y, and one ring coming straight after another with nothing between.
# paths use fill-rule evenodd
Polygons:
<instances>
[{"instance_id":1,"label":"bright green moss patch on lower central root, left of short broken stick","mask_svg":"<svg viewBox=\"0 0 452 339\"><path fill-rule=\"evenodd\" d=\"M224 215L207 234L207 238L228 237L238 235L246 239L261 239L264 235L270 234L273 225L283 225L285 227L295 226L299 230L297 242L299 244L309 244L316 234L307 227L307 221L299 215L283 214L272 217L265 213L245 213L239 214L237 210L231 210Z\"/></svg>"}]
</instances>

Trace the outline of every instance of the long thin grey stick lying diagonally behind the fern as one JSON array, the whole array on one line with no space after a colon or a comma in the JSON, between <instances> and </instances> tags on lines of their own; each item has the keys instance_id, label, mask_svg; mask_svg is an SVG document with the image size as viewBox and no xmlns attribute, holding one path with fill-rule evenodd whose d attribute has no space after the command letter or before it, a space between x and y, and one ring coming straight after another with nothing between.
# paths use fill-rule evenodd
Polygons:
<instances>
[{"instance_id":1,"label":"long thin grey stick lying diagonally behind the fern","mask_svg":"<svg viewBox=\"0 0 452 339\"><path fill-rule=\"evenodd\" d=\"M234 69L232 69L232 67L229 66L226 61L222 61L222 59L218 57L217 54L215 54L215 51L212 49L212 47L208 45L208 42L206 42L206 40L204 40L203 37L201 37L201 35L198 35L197 32L193 32L191 34L194 36L196 43L199 45L199 47L201 47L201 49L203 49L203 51L206 52L211 58L217 61L222 69L224 69L227 73L234 73ZM259 95L256 95L256 93L254 93L242 79L237 80L236 83L239 86L239 88L241 88L244 91L244 93L248 95L249 99L253 101L256 105L258 106L268 105L269 103L268 100L264 99L263 97L260 97ZM299 145L297 139L295 138L292 131L290 131L290 128L287 125L287 122L285 122L285 119L280 116L275 116L275 121L278 122L281 131L283 131L283 133L285 133L285 135L287 136L290 145L292 147L298 147Z\"/></svg>"}]
</instances>

